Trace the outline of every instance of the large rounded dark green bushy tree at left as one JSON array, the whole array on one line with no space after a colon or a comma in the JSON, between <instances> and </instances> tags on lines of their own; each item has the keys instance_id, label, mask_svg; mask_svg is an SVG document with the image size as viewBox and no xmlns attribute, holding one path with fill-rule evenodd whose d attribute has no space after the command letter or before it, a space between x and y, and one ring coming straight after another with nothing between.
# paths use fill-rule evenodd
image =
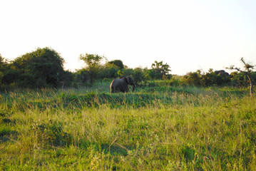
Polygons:
<instances>
[{"instance_id":1,"label":"large rounded dark green bushy tree at left","mask_svg":"<svg viewBox=\"0 0 256 171\"><path fill-rule=\"evenodd\" d=\"M65 78L64 60L51 48L37 48L11 63L16 75L15 82L22 87L61 86Z\"/></svg>"}]
</instances>

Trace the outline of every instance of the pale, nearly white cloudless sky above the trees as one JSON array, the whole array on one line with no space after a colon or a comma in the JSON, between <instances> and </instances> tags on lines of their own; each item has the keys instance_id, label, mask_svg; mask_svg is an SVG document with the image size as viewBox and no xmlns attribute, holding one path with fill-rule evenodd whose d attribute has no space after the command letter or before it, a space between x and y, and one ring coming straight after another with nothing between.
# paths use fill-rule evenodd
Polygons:
<instances>
[{"instance_id":1,"label":"pale, nearly white cloudless sky above the trees","mask_svg":"<svg viewBox=\"0 0 256 171\"><path fill-rule=\"evenodd\" d=\"M80 54L129 68L168 63L172 74L256 65L255 0L0 1L0 54L15 58L50 47L69 71Z\"/></svg>"}]
</instances>

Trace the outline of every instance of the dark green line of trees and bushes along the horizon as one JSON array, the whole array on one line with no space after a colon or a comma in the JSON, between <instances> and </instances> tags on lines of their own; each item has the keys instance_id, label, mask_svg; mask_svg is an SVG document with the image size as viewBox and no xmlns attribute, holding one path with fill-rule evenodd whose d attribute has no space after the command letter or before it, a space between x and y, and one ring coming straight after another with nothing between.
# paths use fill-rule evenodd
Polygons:
<instances>
[{"instance_id":1,"label":"dark green line of trees and bushes along the horizon","mask_svg":"<svg viewBox=\"0 0 256 171\"><path fill-rule=\"evenodd\" d=\"M99 79L132 76L138 86L147 86L152 80L166 80L177 86L248 86L256 81L254 66L242 58L245 70L230 66L225 71L189 72L185 76L170 74L170 66L154 61L150 68L128 68L121 60L108 61L98 54L81 54L86 67L76 72L63 69L64 59L52 48L37 48L13 61L0 54L0 89L8 88L59 88L61 86L91 86ZM246 68L247 67L247 68ZM249 67L249 68L248 68Z\"/></svg>"}]
</instances>

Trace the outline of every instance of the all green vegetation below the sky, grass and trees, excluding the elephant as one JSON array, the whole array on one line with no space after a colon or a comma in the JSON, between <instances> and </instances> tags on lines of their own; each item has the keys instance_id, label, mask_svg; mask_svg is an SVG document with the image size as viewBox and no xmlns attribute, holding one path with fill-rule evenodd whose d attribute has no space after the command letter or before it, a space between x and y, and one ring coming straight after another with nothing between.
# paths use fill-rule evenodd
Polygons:
<instances>
[{"instance_id":1,"label":"all green vegetation below the sky, grass and trees, excluding the elephant","mask_svg":"<svg viewBox=\"0 0 256 171\"><path fill-rule=\"evenodd\" d=\"M0 55L0 170L255 170L256 72L243 58L237 72L185 76L80 59L71 73L51 48ZM120 76L134 93L110 93Z\"/></svg>"}]
</instances>

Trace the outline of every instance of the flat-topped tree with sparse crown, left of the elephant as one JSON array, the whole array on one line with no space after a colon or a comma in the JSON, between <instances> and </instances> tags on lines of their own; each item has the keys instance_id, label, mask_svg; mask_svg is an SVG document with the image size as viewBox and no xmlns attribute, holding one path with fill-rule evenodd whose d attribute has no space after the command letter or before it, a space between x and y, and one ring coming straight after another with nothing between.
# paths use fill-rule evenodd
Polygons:
<instances>
[{"instance_id":1,"label":"flat-topped tree with sparse crown, left of the elephant","mask_svg":"<svg viewBox=\"0 0 256 171\"><path fill-rule=\"evenodd\" d=\"M86 71L88 71L90 75L90 82L93 83L93 81L99 77L101 61L105 57L97 54L86 53L86 55L81 54L79 58L86 63Z\"/></svg>"}]
</instances>

